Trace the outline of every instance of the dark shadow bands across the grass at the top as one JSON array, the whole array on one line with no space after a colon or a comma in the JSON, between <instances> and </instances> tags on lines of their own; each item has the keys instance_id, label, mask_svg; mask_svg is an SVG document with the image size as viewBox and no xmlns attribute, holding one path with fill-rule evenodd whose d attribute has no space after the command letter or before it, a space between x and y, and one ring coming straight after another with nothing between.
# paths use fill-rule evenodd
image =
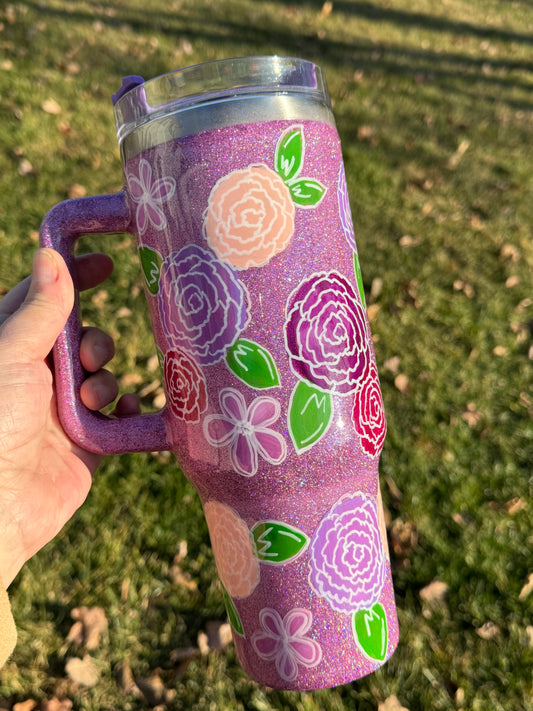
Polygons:
<instances>
[{"instance_id":1,"label":"dark shadow bands across the grass at the top","mask_svg":"<svg viewBox=\"0 0 533 711\"><path fill-rule=\"evenodd\" d=\"M194 11L181 13L107 5L107 14L99 13L96 9L94 12L81 10L67 12L43 6L35 0L23 0L21 4L31 7L41 16L61 17L69 22L93 23L98 20L109 27L120 28L127 25L143 34L154 32L179 38L186 36L189 40L203 40L217 48L218 56L224 55L226 45L234 47L236 44L242 45L243 49L253 46L255 53L298 53L318 62L331 63L335 67L344 65L354 71L366 69L389 76L411 75L419 81L424 81L428 77L445 80L448 82L447 89L450 92L463 92L474 99L483 98L484 90L488 92L495 90L499 102L506 102L518 109L533 107L531 82L525 77L512 75L512 73L527 74L533 71L533 63L528 61L508 61L505 58L475 57L459 52L412 49L394 43L374 43L362 37L356 38L356 41L342 41L327 36L318 37L313 31L294 33L290 27L287 28L287 22L283 17L280 17L276 24L265 27L250 22L246 17L242 20L233 19L231 15L228 16L224 7L218 5L211 8L209 19L206 18L203 4L197 6ZM316 6L317 9L322 6L321 2L308 4ZM112 16L109 16L110 11ZM418 27L487 40L533 44L533 36L529 34L481 27L422 13L380 8L368 2L335 3L335 11L365 19L375 19L377 22L392 22L400 28ZM160 71L160 68L155 67L153 63L125 58L123 52L113 56L112 47L106 46L103 55L95 52L94 47L90 51L93 63L97 56L111 59L114 64L112 69L119 75L135 70L135 73L145 71L147 76L153 76L154 70ZM142 66L143 64L145 66ZM484 87L484 90L479 91L480 87ZM516 91L523 92L523 95L516 97L514 95Z\"/></svg>"}]
</instances>

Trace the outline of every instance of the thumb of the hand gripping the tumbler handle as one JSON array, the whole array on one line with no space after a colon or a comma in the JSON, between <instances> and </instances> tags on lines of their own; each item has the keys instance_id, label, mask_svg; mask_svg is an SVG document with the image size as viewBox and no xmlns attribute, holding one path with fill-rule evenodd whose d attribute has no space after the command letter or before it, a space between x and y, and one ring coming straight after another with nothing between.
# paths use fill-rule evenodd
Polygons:
<instances>
[{"instance_id":1,"label":"thumb of the hand gripping the tumbler handle","mask_svg":"<svg viewBox=\"0 0 533 711\"><path fill-rule=\"evenodd\" d=\"M63 258L53 249L39 249L28 294L2 326L2 350L17 349L23 361L44 360L73 304L74 287Z\"/></svg>"}]
</instances>

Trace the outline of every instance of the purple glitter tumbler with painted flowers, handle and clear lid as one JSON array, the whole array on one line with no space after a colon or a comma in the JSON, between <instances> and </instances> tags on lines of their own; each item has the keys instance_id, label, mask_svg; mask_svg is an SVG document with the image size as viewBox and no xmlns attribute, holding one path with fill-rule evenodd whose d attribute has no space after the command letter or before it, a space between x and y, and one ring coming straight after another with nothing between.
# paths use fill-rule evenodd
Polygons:
<instances>
[{"instance_id":1,"label":"purple glitter tumbler with painted flowers, handle and clear lid","mask_svg":"<svg viewBox=\"0 0 533 711\"><path fill-rule=\"evenodd\" d=\"M358 679L398 641L386 422L322 73L224 60L126 78L114 100L124 190L57 205L41 242L72 264L81 234L136 235L167 405L82 405L75 308L54 349L63 425L91 451L175 453L255 680Z\"/></svg>"}]
</instances>

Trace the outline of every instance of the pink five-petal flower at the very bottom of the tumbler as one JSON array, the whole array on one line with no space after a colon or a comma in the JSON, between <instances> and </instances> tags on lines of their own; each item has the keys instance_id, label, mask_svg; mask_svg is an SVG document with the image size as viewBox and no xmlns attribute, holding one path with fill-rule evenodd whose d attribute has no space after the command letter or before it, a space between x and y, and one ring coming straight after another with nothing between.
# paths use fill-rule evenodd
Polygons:
<instances>
[{"instance_id":1,"label":"pink five-petal flower at the very bottom of the tumbler","mask_svg":"<svg viewBox=\"0 0 533 711\"><path fill-rule=\"evenodd\" d=\"M252 635L252 646L265 662L275 662L284 681L298 678L298 665L312 669L322 661L320 645L307 636L313 624L309 610L294 608L282 618L276 610L265 607L259 613L259 622L261 630Z\"/></svg>"}]
</instances>

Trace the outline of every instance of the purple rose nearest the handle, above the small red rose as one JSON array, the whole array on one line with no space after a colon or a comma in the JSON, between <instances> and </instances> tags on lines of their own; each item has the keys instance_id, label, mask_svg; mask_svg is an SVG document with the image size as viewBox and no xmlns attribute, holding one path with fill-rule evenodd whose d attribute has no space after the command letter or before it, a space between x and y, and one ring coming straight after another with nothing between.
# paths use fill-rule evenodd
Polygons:
<instances>
[{"instance_id":1,"label":"purple rose nearest the handle, above the small red rose","mask_svg":"<svg viewBox=\"0 0 533 711\"><path fill-rule=\"evenodd\" d=\"M172 348L202 365L224 358L248 321L248 293L232 268L189 244L161 266L159 314Z\"/></svg>"}]
</instances>

